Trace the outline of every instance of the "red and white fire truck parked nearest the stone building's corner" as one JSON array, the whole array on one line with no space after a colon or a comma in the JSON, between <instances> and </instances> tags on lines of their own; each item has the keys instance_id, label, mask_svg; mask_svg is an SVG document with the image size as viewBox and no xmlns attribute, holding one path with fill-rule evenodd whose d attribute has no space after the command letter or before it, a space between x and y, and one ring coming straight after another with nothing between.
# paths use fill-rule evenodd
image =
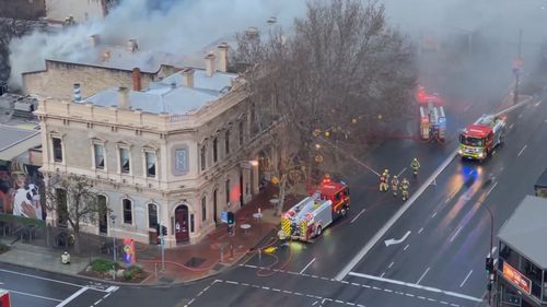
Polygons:
<instances>
[{"instance_id":1,"label":"red and white fire truck parked nearest the stone building's corner","mask_svg":"<svg viewBox=\"0 0 547 307\"><path fill-rule=\"evenodd\" d=\"M326 176L312 196L281 215L281 231L286 237L312 241L334 221L346 216L348 211L348 186Z\"/></svg>"}]
</instances>

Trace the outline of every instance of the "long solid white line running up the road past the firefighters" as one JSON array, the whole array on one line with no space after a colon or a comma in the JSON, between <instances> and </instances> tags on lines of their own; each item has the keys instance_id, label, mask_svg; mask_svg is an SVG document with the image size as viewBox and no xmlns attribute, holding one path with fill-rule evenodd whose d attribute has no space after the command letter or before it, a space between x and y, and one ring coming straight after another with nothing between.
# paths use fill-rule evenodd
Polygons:
<instances>
[{"instance_id":1,"label":"long solid white line running up the road past the firefighters","mask_svg":"<svg viewBox=\"0 0 547 307\"><path fill-rule=\"evenodd\" d=\"M412 203L420 197L423 191L433 182L433 180L441 174L441 172L449 166L449 164L454 160L456 156L457 150L454 150L449 157L431 174L431 176L423 182L423 185L408 199L405 204L395 213L387 223L384 224L384 226L372 237L366 245L361 248L361 250L346 264L346 267L342 268L338 274L336 274L335 279L337 281L344 280L346 275L353 269L361 259L369 252L369 250L376 245L376 243L387 233L387 231L403 216L403 214L412 205Z\"/></svg>"}]
</instances>

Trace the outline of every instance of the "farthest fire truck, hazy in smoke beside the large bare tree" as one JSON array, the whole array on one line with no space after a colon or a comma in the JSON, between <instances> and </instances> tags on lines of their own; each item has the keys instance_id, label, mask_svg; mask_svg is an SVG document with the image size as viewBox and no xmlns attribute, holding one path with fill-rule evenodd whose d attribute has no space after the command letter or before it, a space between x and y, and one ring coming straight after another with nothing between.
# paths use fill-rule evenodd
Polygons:
<instances>
[{"instance_id":1,"label":"farthest fire truck, hazy in smoke beside the large bare tree","mask_svg":"<svg viewBox=\"0 0 547 307\"><path fill-rule=\"evenodd\" d=\"M420 110L420 138L444 142L446 115L441 97L438 94L429 94L423 86L418 85L415 99L418 102Z\"/></svg>"}]
</instances>

